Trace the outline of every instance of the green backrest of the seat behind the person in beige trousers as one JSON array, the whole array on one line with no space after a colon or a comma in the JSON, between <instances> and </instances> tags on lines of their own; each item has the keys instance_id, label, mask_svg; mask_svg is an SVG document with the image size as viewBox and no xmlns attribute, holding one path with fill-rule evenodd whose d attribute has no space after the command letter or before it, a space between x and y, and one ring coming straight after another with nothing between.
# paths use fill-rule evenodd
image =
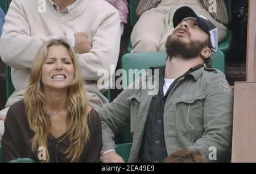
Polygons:
<instances>
[{"instance_id":1,"label":"green backrest of the seat behind the person in beige trousers","mask_svg":"<svg viewBox=\"0 0 256 174\"><path fill-rule=\"evenodd\" d=\"M139 0L129 0L129 6L130 6L130 24L131 26L135 26L135 23L137 23L139 17L136 15L136 9L139 4ZM228 11L228 18L229 23L232 20L232 0L225 0L226 9Z\"/></svg>"}]
</instances>

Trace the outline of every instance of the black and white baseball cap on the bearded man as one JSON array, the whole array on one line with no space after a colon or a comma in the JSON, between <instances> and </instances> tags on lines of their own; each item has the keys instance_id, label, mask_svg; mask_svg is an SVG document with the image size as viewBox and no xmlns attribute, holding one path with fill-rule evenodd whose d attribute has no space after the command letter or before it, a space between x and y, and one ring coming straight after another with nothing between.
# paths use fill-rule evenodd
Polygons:
<instances>
[{"instance_id":1,"label":"black and white baseball cap on the bearded man","mask_svg":"<svg viewBox=\"0 0 256 174\"><path fill-rule=\"evenodd\" d=\"M172 22L174 24L174 28L185 19L193 18L196 19L199 23L199 26L210 35L210 41L212 43L212 51L216 52L218 49L218 33L217 27L210 22L205 16L201 14L196 14L190 7L184 6L177 9L174 13L174 18Z\"/></svg>"}]
</instances>

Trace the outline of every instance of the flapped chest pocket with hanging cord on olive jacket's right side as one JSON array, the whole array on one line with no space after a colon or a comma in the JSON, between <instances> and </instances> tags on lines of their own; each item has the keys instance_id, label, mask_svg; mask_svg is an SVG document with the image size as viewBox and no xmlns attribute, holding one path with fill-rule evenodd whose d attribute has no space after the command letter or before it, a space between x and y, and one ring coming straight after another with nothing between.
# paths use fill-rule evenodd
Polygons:
<instances>
[{"instance_id":1,"label":"flapped chest pocket with hanging cord on olive jacket's right side","mask_svg":"<svg viewBox=\"0 0 256 174\"><path fill-rule=\"evenodd\" d=\"M176 100L175 118L178 134L187 136L204 130L203 93L184 95Z\"/></svg>"}]
</instances>

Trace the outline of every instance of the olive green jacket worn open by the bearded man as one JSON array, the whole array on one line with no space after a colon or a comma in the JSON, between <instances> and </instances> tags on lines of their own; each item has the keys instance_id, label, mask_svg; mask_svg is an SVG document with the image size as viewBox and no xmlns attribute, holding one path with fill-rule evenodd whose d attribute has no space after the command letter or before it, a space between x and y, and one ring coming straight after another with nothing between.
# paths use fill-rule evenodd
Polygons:
<instances>
[{"instance_id":1,"label":"olive green jacket worn open by the bearded man","mask_svg":"<svg viewBox=\"0 0 256 174\"><path fill-rule=\"evenodd\" d=\"M129 88L142 82L158 82L158 78L158 74L144 74ZM154 84L153 89L142 89L141 84L139 89L124 90L99 111L102 150L114 149L114 135L130 124L133 145L129 162L138 162L148 108L152 96L159 91L158 83ZM188 147L199 150L209 162L229 159L232 116L233 92L221 71L204 65L180 78L168 94L164 107L164 138L168 155Z\"/></svg>"}]
</instances>

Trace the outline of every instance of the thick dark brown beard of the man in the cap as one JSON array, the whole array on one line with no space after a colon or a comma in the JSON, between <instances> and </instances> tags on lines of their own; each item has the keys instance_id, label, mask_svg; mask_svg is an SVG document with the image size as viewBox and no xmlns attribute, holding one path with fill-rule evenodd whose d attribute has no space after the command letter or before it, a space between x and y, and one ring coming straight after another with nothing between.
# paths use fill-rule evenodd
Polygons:
<instances>
[{"instance_id":1,"label":"thick dark brown beard of the man in the cap","mask_svg":"<svg viewBox=\"0 0 256 174\"><path fill-rule=\"evenodd\" d=\"M205 41L191 40L189 43L185 43L174 34L175 32L168 37L166 42L166 52L170 58L180 57L183 60L191 60L200 56L203 48L208 46L208 39Z\"/></svg>"}]
</instances>

